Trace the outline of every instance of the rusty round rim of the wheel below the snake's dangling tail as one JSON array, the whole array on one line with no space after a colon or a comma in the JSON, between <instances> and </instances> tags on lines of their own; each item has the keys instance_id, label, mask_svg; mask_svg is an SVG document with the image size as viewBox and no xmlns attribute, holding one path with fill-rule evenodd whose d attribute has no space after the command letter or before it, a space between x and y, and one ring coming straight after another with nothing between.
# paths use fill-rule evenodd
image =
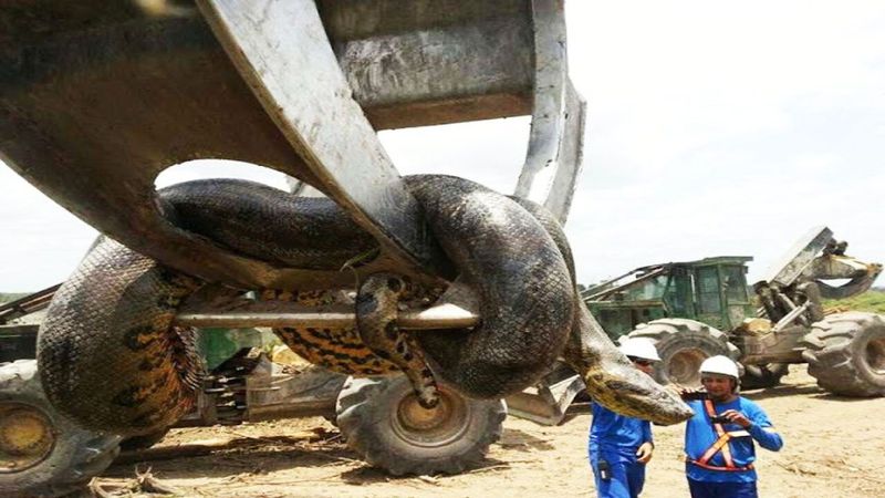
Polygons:
<instances>
[{"instance_id":1,"label":"rusty round rim of the wheel below the snake's dangling tail","mask_svg":"<svg viewBox=\"0 0 885 498\"><path fill-rule=\"evenodd\" d=\"M470 406L461 396L446 390L439 392L439 404L426 409L409 390L393 417L393 429L399 438L414 446L447 446L469 428L469 411Z\"/></svg>"}]
</instances>

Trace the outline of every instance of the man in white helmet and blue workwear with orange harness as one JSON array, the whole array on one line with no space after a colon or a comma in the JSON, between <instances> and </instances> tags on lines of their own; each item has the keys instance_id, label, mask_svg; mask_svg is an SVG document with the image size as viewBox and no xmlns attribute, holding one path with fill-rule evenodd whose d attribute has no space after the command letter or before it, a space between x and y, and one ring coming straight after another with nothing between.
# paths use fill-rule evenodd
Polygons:
<instances>
[{"instance_id":1,"label":"man in white helmet and blue workwear with orange harness","mask_svg":"<svg viewBox=\"0 0 885 498\"><path fill-rule=\"evenodd\" d=\"M783 446L766 412L738 393L738 365L727 356L700 364L704 391L683 390L695 412L685 430L686 476L691 498L757 498L756 446Z\"/></svg>"}]
</instances>

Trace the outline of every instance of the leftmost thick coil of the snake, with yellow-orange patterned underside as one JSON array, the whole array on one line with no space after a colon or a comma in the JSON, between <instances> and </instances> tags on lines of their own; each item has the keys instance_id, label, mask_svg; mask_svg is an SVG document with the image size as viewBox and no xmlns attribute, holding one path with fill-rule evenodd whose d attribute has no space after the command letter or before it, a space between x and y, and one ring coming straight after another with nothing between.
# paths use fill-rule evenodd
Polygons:
<instances>
[{"instance_id":1,"label":"leftmost thick coil of the snake, with yellow-orange patterned underside","mask_svg":"<svg viewBox=\"0 0 885 498\"><path fill-rule=\"evenodd\" d=\"M102 237L55 293L38 335L43 390L96 430L147 434L185 415L201 364L173 325L198 282Z\"/></svg>"}]
</instances>

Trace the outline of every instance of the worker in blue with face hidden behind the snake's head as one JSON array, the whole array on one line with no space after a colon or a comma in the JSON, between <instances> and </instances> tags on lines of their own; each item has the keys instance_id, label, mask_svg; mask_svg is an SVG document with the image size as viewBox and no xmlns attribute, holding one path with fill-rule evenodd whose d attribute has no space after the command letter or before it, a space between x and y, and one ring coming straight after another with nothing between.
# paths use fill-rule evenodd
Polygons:
<instances>
[{"instance_id":1,"label":"worker in blue with face hidden behind the snake's head","mask_svg":"<svg viewBox=\"0 0 885 498\"><path fill-rule=\"evenodd\" d=\"M648 375L654 362L660 361L654 343L647 339L627 339L620 349L636 369ZM639 496L645 484L645 465L655 450L648 422L618 415L594 402L589 447L600 498Z\"/></svg>"}]
</instances>

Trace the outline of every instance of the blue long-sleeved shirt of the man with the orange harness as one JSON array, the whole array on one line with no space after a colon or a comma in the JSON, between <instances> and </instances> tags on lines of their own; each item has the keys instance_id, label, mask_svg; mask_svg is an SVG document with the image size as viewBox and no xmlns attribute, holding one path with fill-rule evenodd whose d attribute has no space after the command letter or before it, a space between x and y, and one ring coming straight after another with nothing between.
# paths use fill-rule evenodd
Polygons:
<instances>
[{"instance_id":1,"label":"blue long-sleeved shirt of the man with the orange harness","mask_svg":"<svg viewBox=\"0 0 885 498\"><path fill-rule=\"evenodd\" d=\"M716 434L716 428L710 423L707 411L704 407L702 401L690 401L688 405L695 412L695 415L688 419L685 429L685 453L688 458L698 460L712 446L719 436ZM753 440L759 443L759 446L777 452L783 446L781 436L771 428L771 421L768 415L756 403L745 397L738 396L737 400L730 403L716 403L714 409L717 414L721 414L727 409L736 409L743 413L750 419L752 425L749 429L738 424L722 424L726 432L746 430L749 436L735 437L728 446L731 449L731 460L736 467L746 467L756 461L756 446ZM725 467L725 458L722 452L718 452L707 463L708 465ZM757 475L754 469L750 470L714 470L699 467L691 463L686 463L686 475L691 480L700 480L707 483L752 483L756 481Z\"/></svg>"}]
</instances>

